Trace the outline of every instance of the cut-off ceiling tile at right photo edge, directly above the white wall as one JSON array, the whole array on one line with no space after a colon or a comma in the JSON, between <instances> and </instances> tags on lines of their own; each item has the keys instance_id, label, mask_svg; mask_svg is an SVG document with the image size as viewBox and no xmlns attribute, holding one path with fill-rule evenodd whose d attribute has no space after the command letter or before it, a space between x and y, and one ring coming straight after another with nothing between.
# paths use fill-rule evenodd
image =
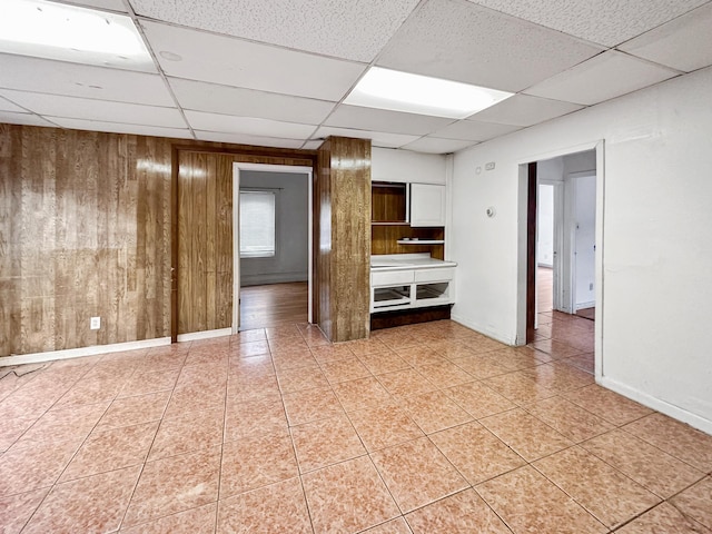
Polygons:
<instances>
[{"instance_id":1,"label":"cut-off ceiling tile at right photo edge, directly above the white wall","mask_svg":"<svg viewBox=\"0 0 712 534\"><path fill-rule=\"evenodd\" d=\"M712 65L712 2L620 46L634 56L691 72Z\"/></svg>"}]
</instances>

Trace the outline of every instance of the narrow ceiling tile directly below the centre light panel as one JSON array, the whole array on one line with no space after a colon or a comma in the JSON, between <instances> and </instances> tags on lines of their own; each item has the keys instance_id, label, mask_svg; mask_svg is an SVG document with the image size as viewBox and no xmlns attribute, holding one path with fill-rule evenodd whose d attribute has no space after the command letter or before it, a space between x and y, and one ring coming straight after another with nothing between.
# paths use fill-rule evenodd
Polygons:
<instances>
[{"instance_id":1,"label":"narrow ceiling tile directly below the centre light panel","mask_svg":"<svg viewBox=\"0 0 712 534\"><path fill-rule=\"evenodd\" d=\"M324 126L425 136L451 122L453 119L443 117L342 105L329 116Z\"/></svg>"}]
</instances>

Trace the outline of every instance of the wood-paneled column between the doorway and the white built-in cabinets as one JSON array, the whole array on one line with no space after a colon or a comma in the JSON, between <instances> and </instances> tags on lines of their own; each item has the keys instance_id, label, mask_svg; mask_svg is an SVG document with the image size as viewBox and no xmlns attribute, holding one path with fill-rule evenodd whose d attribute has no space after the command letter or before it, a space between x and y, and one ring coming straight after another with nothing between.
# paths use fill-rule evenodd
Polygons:
<instances>
[{"instance_id":1,"label":"wood-paneled column between the doorway and the white built-in cabinets","mask_svg":"<svg viewBox=\"0 0 712 534\"><path fill-rule=\"evenodd\" d=\"M318 156L317 320L333 342L360 339L370 317L370 141L332 137Z\"/></svg>"}]
</instances>

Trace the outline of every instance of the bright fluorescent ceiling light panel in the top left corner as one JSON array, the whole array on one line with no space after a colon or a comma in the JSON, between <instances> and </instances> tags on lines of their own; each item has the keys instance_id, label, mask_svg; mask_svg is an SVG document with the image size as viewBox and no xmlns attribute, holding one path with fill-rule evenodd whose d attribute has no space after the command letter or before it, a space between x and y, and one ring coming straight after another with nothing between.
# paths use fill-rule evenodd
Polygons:
<instances>
[{"instance_id":1,"label":"bright fluorescent ceiling light panel in the top left corner","mask_svg":"<svg viewBox=\"0 0 712 534\"><path fill-rule=\"evenodd\" d=\"M42 0L2 0L0 51L156 71L129 17Z\"/></svg>"}]
</instances>

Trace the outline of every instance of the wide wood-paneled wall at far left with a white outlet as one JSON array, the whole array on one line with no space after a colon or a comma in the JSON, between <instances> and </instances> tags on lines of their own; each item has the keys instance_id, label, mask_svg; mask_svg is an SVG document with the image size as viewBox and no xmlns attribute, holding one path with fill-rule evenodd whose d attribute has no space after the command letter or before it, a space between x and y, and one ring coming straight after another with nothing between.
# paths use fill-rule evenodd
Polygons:
<instances>
[{"instance_id":1,"label":"wide wood-paneled wall at far left with a white outlet","mask_svg":"<svg viewBox=\"0 0 712 534\"><path fill-rule=\"evenodd\" d=\"M168 139L0 125L0 356L169 335L170 169Z\"/></svg>"}]
</instances>

